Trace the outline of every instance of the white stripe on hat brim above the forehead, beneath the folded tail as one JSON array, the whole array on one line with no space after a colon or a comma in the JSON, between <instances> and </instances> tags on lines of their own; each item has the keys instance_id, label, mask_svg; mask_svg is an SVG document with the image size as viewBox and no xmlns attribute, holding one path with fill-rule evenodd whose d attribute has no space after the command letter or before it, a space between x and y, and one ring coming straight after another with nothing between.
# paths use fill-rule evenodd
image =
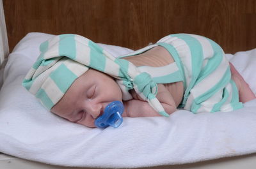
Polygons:
<instances>
[{"instance_id":1,"label":"white stripe on hat brim above the forehead, beneath the folded tail","mask_svg":"<svg viewBox=\"0 0 256 169\"><path fill-rule=\"evenodd\" d=\"M80 77L84 72L86 72L89 68L84 66L83 64L67 59L63 62L68 70L72 71L77 77Z\"/></svg>"}]
</instances>

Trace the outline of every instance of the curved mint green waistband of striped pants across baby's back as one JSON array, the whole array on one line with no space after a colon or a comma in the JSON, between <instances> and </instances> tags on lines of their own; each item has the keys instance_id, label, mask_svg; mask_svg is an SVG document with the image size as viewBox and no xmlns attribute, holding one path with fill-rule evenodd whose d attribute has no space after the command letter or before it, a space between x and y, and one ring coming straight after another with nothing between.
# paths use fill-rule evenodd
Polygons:
<instances>
[{"instance_id":1,"label":"curved mint green waistband of striped pants across baby's back","mask_svg":"<svg viewBox=\"0 0 256 169\"><path fill-rule=\"evenodd\" d=\"M172 55L174 61L176 62L177 66L179 68L180 75L181 75L183 85L184 85L184 89L186 89L187 83L186 83L186 78L185 78L185 74L184 74L184 66L183 66L182 62L180 61L180 56L179 56L177 50L175 49L175 47L173 47L172 45L170 45L168 43L160 42L160 43L157 43L157 45L164 47Z\"/></svg>"}]
</instances>

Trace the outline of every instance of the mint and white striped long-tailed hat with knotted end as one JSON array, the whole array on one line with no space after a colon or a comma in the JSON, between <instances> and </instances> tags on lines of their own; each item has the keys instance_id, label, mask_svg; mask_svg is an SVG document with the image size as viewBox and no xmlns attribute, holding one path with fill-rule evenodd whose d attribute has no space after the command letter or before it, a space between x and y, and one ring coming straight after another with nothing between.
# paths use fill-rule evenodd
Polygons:
<instances>
[{"instance_id":1,"label":"mint and white striped long-tailed hat with knotted end","mask_svg":"<svg viewBox=\"0 0 256 169\"><path fill-rule=\"evenodd\" d=\"M159 114L168 117L156 98L157 84L148 73L141 73L134 64L117 59L93 41L77 34L61 34L40 45L40 55L24 78L22 85L47 110L60 101L68 87L88 68L115 77L124 93L134 89Z\"/></svg>"}]
</instances>

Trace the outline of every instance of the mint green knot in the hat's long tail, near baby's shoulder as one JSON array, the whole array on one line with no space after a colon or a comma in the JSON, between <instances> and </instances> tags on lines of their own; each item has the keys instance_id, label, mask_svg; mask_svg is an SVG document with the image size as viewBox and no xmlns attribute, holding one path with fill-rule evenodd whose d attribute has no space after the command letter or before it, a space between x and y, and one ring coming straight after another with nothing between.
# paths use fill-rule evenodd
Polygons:
<instances>
[{"instance_id":1,"label":"mint green knot in the hat's long tail, near baby's shoulder","mask_svg":"<svg viewBox=\"0 0 256 169\"><path fill-rule=\"evenodd\" d=\"M134 84L137 85L138 91L142 93L140 96L148 99L149 94L156 96L157 94L157 84L152 80L148 73L140 73L140 75L134 78ZM144 99L145 99L144 98Z\"/></svg>"}]
</instances>

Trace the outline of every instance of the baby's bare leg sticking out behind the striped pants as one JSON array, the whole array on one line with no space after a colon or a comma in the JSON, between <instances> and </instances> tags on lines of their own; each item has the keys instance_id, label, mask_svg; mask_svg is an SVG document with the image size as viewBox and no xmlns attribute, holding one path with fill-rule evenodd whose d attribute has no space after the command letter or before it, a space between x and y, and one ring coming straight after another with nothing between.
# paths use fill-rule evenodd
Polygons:
<instances>
[{"instance_id":1,"label":"baby's bare leg sticking out behind the striped pants","mask_svg":"<svg viewBox=\"0 0 256 169\"><path fill-rule=\"evenodd\" d=\"M244 81L244 78L239 74L239 72L236 70L236 68L231 62L229 62L229 64L232 79L234 80L234 82L236 82L237 89L239 92L239 101L244 103L246 101L250 101L251 99L255 99L255 94L252 92L249 85Z\"/></svg>"}]
</instances>

